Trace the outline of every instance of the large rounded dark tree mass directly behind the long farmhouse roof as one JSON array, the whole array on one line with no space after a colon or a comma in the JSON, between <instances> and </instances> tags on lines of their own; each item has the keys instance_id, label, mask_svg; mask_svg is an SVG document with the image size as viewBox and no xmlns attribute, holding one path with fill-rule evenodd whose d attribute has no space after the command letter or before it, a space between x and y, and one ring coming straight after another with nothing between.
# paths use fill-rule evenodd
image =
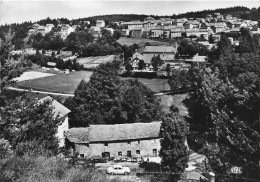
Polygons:
<instances>
[{"instance_id":1,"label":"large rounded dark tree mass directly behind the long farmhouse roof","mask_svg":"<svg viewBox=\"0 0 260 182\"><path fill-rule=\"evenodd\" d=\"M102 64L89 82L82 80L71 109L73 126L151 122L160 116L159 100L138 81L121 81L117 76L120 62Z\"/></svg>"}]
</instances>

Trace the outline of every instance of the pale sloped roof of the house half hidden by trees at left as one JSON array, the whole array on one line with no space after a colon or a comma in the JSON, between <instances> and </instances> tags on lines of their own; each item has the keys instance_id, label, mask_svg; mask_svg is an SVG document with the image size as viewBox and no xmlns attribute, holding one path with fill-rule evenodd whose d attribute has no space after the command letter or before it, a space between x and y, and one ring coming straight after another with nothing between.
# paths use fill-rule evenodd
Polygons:
<instances>
[{"instance_id":1,"label":"pale sloped roof of the house half hidden by trees at left","mask_svg":"<svg viewBox=\"0 0 260 182\"><path fill-rule=\"evenodd\" d=\"M42 99L39 100L39 103L42 103L46 100L50 100L51 105L53 106L53 113L54 113L54 117L57 117L59 115L59 117L63 117L66 114L70 113L70 110L65 107L64 105L62 105L61 103L59 103L58 101L56 101L55 99L53 99L50 96L44 97Z\"/></svg>"}]
</instances>

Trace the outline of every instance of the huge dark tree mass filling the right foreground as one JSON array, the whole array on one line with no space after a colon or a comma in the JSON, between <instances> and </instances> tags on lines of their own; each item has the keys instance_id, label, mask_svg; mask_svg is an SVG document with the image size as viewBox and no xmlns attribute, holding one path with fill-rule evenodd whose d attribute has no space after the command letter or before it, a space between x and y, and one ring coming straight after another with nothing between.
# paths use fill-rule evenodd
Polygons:
<instances>
[{"instance_id":1,"label":"huge dark tree mass filling the right foreground","mask_svg":"<svg viewBox=\"0 0 260 182\"><path fill-rule=\"evenodd\" d=\"M243 80L257 79L254 74L242 74ZM243 176L257 179L254 171L259 170L260 159L258 84L240 89L231 79L220 76L218 70L201 70L200 82L188 99L188 121L196 125L190 129L190 146L204 151L218 173L225 174L231 167L239 166Z\"/></svg>"}]
</instances>

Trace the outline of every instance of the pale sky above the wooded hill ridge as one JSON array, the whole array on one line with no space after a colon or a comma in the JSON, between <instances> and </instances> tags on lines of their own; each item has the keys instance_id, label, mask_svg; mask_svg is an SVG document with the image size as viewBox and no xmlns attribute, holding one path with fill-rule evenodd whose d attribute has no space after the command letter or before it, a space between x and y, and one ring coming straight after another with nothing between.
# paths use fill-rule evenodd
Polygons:
<instances>
[{"instance_id":1,"label":"pale sky above the wooded hill ridge","mask_svg":"<svg viewBox=\"0 0 260 182\"><path fill-rule=\"evenodd\" d=\"M0 0L0 24L68 19L107 14L172 15L189 11L245 6L260 7L260 0Z\"/></svg>"}]
</instances>

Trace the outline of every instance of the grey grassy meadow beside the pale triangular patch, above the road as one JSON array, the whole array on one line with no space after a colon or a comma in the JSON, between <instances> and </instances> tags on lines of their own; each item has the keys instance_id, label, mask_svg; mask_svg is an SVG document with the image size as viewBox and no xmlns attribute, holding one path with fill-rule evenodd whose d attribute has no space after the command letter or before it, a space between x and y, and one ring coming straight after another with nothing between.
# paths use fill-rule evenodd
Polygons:
<instances>
[{"instance_id":1,"label":"grey grassy meadow beside the pale triangular patch, above the road","mask_svg":"<svg viewBox=\"0 0 260 182\"><path fill-rule=\"evenodd\" d=\"M26 88L40 91L59 92L73 94L82 79L89 80L92 72L77 71L68 75L57 74L55 76L23 81L17 83L18 88Z\"/></svg>"}]
</instances>

